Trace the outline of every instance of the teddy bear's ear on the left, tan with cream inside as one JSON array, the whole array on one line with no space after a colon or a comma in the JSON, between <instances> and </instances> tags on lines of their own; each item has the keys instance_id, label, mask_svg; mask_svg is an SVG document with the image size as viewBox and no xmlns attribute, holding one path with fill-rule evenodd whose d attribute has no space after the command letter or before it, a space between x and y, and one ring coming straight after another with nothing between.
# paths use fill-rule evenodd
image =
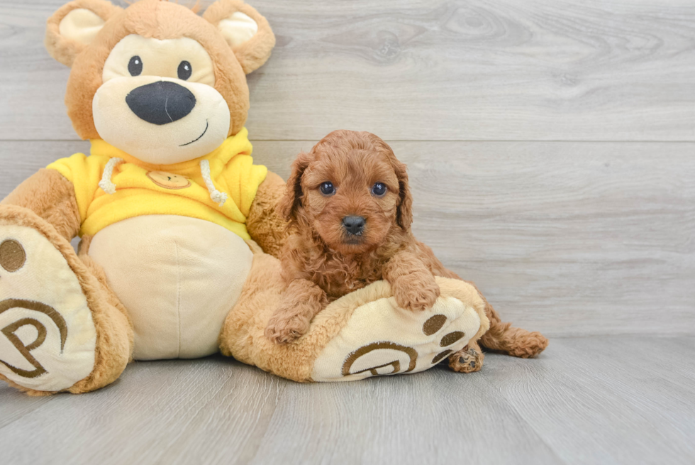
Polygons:
<instances>
[{"instance_id":1,"label":"teddy bear's ear on the left, tan with cream inside","mask_svg":"<svg viewBox=\"0 0 695 465\"><path fill-rule=\"evenodd\" d=\"M106 0L73 0L48 18L45 45L63 65L72 66L78 53L89 45L107 19L121 11Z\"/></svg>"}]
</instances>

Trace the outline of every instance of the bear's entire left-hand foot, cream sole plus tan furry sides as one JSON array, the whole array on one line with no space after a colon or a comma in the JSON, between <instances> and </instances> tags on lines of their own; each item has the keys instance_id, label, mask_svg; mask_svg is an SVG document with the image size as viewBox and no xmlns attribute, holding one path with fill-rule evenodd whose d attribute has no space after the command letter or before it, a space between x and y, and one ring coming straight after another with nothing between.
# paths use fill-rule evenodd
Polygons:
<instances>
[{"instance_id":1,"label":"bear's entire left-hand foot, cream sole plus tan furry sides","mask_svg":"<svg viewBox=\"0 0 695 465\"><path fill-rule=\"evenodd\" d=\"M0 208L0 379L29 395L120 376L133 329L103 273L28 209Z\"/></svg>"}]
</instances>

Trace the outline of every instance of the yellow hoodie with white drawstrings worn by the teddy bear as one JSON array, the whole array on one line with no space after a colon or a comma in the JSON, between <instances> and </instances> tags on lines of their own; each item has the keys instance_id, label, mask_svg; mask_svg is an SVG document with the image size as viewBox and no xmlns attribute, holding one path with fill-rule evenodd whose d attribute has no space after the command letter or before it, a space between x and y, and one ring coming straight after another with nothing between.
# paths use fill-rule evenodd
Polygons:
<instances>
[{"instance_id":1,"label":"yellow hoodie with white drawstrings worn by the teddy bear","mask_svg":"<svg viewBox=\"0 0 695 465\"><path fill-rule=\"evenodd\" d=\"M253 165L243 128L211 153L173 165L150 165L100 139L91 155L75 153L51 163L74 185L82 221L79 235L146 214L206 219L250 239L246 217L267 168Z\"/></svg>"}]
</instances>

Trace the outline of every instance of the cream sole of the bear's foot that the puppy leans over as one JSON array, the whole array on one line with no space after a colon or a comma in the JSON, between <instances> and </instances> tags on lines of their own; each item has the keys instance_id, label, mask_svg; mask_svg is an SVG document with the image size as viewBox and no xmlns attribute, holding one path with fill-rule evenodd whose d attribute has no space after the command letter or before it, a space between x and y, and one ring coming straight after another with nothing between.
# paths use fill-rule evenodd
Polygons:
<instances>
[{"instance_id":1,"label":"cream sole of the bear's foot that the puppy leans over","mask_svg":"<svg viewBox=\"0 0 695 465\"><path fill-rule=\"evenodd\" d=\"M481 328L481 315L447 289L423 312L405 310L393 297L357 307L319 354L312 380L354 381L417 373L463 349Z\"/></svg>"}]
</instances>

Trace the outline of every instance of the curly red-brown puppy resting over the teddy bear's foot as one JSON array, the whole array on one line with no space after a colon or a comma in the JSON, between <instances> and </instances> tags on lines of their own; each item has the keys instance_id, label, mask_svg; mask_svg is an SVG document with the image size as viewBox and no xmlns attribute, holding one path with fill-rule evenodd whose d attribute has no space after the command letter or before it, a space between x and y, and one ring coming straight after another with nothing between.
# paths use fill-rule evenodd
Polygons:
<instances>
[{"instance_id":1,"label":"curly red-brown puppy resting over the teddy bear's foot","mask_svg":"<svg viewBox=\"0 0 695 465\"><path fill-rule=\"evenodd\" d=\"M324 192L330 182L333 189ZM380 183L385 187L374 190ZM352 290L385 279L399 306L431 307L439 288L434 275L461 279L411 232L413 198L406 165L372 133L333 131L292 165L279 212L291 235L281 260L288 285L284 301L270 319L266 336L277 343L301 337L326 304ZM363 219L350 232L347 217ZM502 323L486 302L491 328L482 338L490 349L514 356L535 356L547 339ZM456 371L478 371L483 354L469 344L450 356Z\"/></svg>"}]
</instances>

